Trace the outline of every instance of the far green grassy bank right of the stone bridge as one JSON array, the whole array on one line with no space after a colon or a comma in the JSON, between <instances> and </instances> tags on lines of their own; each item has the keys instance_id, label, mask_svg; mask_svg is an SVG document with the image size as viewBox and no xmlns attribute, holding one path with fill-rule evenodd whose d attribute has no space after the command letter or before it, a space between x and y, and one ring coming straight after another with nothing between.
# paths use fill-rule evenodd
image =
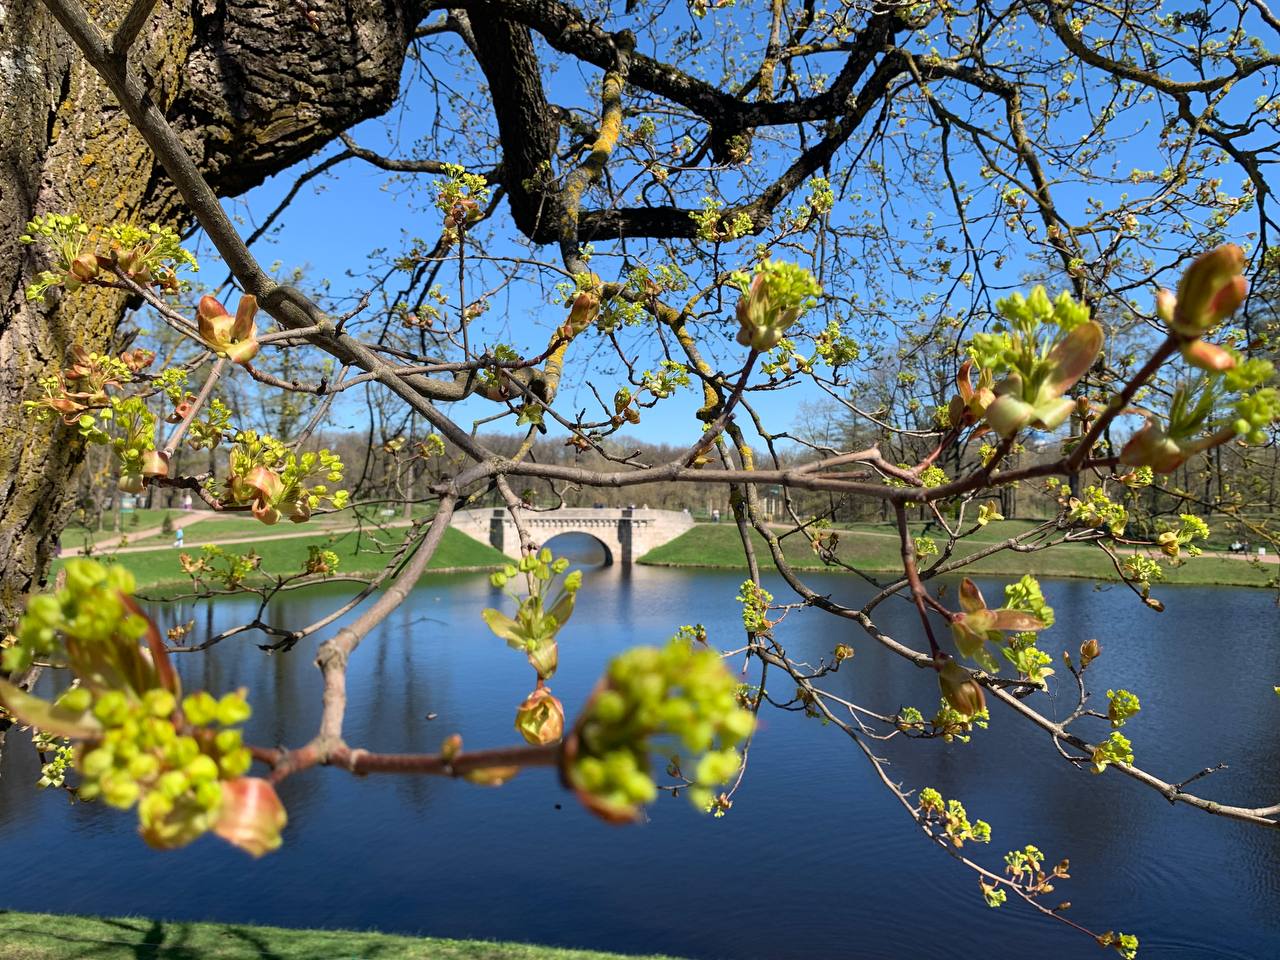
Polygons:
<instances>
[{"instance_id":1,"label":"far green grassy bank right of the stone bridge","mask_svg":"<svg viewBox=\"0 0 1280 960\"><path fill-rule=\"evenodd\" d=\"M1009 520L991 524L956 545L951 559L959 559L989 548L1034 526L1029 521ZM842 561L868 572L896 572L901 570L897 534L888 525L863 525L840 530L838 554ZM936 532L934 539L942 543ZM764 538L753 532L756 556L765 567L773 567ZM809 541L800 534L785 538L783 553L797 570L829 568L814 554ZM744 570L742 543L733 524L700 524L668 544L650 550L641 563L666 567L713 567ZM1089 580L1117 580L1115 567L1102 550L1089 545L1064 545L1039 553L1014 553L1004 550L965 567L965 573L986 576L1021 576L1033 573L1044 577L1083 577ZM1275 564L1256 566L1243 559L1199 557L1181 567L1167 568L1165 582L1210 584L1221 586L1266 586L1280 573Z\"/></svg>"}]
</instances>

